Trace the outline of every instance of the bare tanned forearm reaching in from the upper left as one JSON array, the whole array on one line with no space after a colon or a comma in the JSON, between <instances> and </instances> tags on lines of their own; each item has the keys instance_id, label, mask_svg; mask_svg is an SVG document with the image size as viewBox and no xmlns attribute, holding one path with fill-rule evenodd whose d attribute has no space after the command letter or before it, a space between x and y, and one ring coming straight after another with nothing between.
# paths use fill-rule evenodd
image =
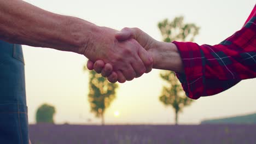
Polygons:
<instances>
[{"instance_id":1,"label":"bare tanned forearm reaching in from the upper left","mask_svg":"<svg viewBox=\"0 0 256 144\"><path fill-rule=\"evenodd\" d=\"M19 0L0 0L0 39L10 43L83 53L96 26Z\"/></svg>"}]
</instances>

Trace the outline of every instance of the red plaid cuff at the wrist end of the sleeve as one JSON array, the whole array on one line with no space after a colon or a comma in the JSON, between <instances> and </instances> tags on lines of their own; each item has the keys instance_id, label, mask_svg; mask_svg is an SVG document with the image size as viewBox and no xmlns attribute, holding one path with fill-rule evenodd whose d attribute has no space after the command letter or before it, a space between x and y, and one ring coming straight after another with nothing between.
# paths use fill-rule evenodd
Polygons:
<instances>
[{"instance_id":1,"label":"red plaid cuff at the wrist end of the sleeve","mask_svg":"<svg viewBox=\"0 0 256 144\"><path fill-rule=\"evenodd\" d=\"M183 90L187 97L199 99L205 94L203 81L203 52L196 43L173 41L181 55L184 73L176 73L179 81L182 83Z\"/></svg>"}]
</instances>

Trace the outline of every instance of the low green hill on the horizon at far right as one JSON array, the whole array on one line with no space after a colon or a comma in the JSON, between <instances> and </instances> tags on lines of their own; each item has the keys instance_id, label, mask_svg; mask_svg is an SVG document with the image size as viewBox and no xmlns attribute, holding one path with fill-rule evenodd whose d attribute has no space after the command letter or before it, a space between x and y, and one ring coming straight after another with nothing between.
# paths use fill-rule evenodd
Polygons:
<instances>
[{"instance_id":1,"label":"low green hill on the horizon at far right","mask_svg":"<svg viewBox=\"0 0 256 144\"><path fill-rule=\"evenodd\" d=\"M207 119L202 121L201 124L256 124L256 113L235 117Z\"/></svg>"}]
</instances>

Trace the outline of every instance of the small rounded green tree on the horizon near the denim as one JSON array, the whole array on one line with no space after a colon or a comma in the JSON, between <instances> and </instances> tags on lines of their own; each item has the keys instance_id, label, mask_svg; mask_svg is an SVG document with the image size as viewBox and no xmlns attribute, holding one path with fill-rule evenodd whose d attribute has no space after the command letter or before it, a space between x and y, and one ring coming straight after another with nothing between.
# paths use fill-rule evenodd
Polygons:
<instances>
[{"instance_id":1,"label":"small rounded green tree on the horizon near the denim","mask_svg":"<svg viewBox=\"0 0 256 144\"><path fill-rule=\"evenodd\" d=\"M37 123L54 123L53 116L55 114L54 106L43 104L37 109L36 121Z\"/></svg>"}]
</instances>

